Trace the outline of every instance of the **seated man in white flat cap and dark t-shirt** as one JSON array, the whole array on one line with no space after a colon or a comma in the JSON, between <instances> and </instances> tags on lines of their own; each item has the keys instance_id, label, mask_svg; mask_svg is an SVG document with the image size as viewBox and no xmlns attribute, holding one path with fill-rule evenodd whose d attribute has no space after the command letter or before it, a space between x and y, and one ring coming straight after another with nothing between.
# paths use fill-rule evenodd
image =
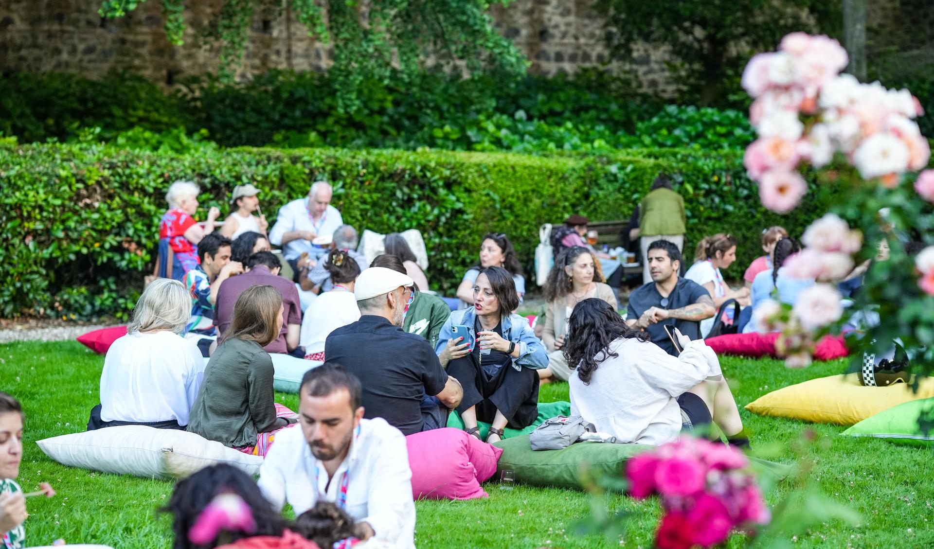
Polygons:
<instances>
[{"instance_id":1,"label":"seated man in white flat cap and dark t-shirt","mask_svg":"<svg viewBox=\"0 0 934 549\"><path fill-rule=\"evenodd\" d=\"M428 340L402 329L414 285L385 267L363 271L354 286L360 320L332 331L324 344L327 364L360 378L363 417L382 417L404 435L445 427L463 398Z\"/></svg>"}]
</instances>

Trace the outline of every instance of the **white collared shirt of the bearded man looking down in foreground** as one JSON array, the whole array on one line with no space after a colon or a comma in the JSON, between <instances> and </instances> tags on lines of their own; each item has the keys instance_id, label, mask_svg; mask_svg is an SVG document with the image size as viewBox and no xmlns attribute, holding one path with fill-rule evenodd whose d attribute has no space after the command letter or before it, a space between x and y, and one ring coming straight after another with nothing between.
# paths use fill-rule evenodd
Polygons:
<instances>
[{"instance_id":1,"label":"white collared shirt of the bearded man looking down in foreground","mask_svg":"<svg viewBox=\"0 0 934 549\"><path fill-rule=\"evenodd\" d=\"M347 514L373 527L376 539L414 549L415 502L405 437L381 417L361 419L359 429L330 485L302 429L279 431L260 467L260 489L276 510L288 501L299 515L318 498L337 501L347 472Z\"/></svg>"}]
</instances>

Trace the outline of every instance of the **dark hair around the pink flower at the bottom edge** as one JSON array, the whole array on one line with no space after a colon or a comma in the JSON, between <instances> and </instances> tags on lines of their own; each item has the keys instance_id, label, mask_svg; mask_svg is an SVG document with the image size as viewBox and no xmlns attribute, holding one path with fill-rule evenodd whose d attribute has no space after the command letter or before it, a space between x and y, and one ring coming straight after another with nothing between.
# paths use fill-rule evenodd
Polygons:
<instances>
[{"instance_id":1,"label":"dark hair around the pink flower at the bottom edge","mask_svg":"<svg viewBox=\"0 0 934 549\"><path fill-rule=\"evenodd\" d=\"M232 465L220 464L205 467L190 477L178 481L169 502L160 509L161 513L173 516L172 531L175 533L173 549L213 549L217 547L217 540L207 545L198 545L188 539L188 532L198 520L198 515L215 496L221 493L233 493L243 498L253 514L257 530L247 534L245 532L229 532L233 539L226 542L235 542L250 536L281 536L282 531L290 524L273 508L272 503L262 496L260 487L253 482L253 477L242 472Z\"/></svg>"}]
</instances>

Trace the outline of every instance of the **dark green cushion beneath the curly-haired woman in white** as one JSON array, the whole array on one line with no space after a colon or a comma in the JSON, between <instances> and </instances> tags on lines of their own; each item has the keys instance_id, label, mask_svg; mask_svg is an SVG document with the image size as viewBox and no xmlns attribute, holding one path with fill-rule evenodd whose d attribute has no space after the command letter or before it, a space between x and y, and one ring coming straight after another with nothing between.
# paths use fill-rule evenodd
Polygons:
<instances>
[{"instance_id":1,"label":"dark green cushion beneath the curly-haired woman in white","mask_svg":"<svg viewBox=\"0 0 934 549\"><path fill-rule=\"evenodd\" d=\"M646 444L573 443L563 450L535 451L529 435L493 445L502 448L497 479L502 478L503 471L511 471L517 483L576 490L587 489L601 477L621 478L630 457L654 448ZM753 472L771 483L784 479L791 471L787 465L757 457L749 457L749 462Z\"/></svg>"}]
</instances>

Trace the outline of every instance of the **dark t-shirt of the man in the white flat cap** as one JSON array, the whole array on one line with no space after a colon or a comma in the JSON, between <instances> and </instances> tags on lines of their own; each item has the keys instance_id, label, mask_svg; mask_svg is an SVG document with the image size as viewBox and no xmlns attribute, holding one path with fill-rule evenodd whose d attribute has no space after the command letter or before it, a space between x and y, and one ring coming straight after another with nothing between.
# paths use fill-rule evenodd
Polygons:
<instances>
[{"instance_id":1,"label":"dark t-shirt of the man in the white flat cap","mask_svg":"<svg viewBox=\"0 0 934 549\"><path fill-rule=\"evenodd\" d=\"M447 383L428 340L384 317L364 315L332 331L324 357L360 378L363 417L382 417L405 435L421 431L422 397L437 395Z\"/></svg>"}]
</instances>

